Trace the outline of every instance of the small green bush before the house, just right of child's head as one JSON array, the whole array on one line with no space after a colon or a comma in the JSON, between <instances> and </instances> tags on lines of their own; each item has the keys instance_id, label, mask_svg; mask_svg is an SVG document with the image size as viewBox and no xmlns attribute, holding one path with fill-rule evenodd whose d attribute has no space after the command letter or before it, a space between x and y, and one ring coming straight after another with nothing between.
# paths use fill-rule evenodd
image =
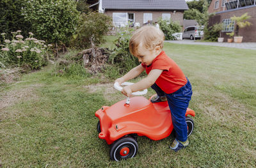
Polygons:
<instances>
[{"instance_id":1,"label":"small green bush before the house, just right of child's head","mask_svg":"<svg viewBox=\"0 0 256 168\"><path fill-rule=\"evenodd\" d=\"M178 22L170 20L168 23L166 20L159 20L159 27L163 31L165 40L175 40L173 33L181 32L181 27Z\"/></svg>"}]
</instances>

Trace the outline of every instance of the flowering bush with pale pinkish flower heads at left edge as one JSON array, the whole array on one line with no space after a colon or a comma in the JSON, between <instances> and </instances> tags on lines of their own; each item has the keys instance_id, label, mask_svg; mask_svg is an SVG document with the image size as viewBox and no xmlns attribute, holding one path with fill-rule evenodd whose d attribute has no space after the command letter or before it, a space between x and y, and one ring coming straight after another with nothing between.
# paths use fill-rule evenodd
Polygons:
<instances>
[{"instance_id":1,"label":"flowering bush with pale pinkish flower heads at left edge","mask_svg":"<svg viewBox=\"0 0 256 168\"><path fill-rule=\"evenodd\" d=\"M0 67L17 65L27 70L35 70L46 65L48 48L45 42L33 38L33 33L29 33L29 38L22 40L20 32L13 32L12 40L6 39L5 33L1 33L4 42L0 50Z\"/></svg>"}]
</instances>

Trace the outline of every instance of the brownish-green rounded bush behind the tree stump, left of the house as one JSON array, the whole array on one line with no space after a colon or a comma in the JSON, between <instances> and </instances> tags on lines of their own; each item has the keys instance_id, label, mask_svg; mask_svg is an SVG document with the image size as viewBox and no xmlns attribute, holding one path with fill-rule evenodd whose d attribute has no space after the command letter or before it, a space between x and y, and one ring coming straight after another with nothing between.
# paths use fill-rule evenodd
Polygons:
<instances>
[{"instance_id":1,"label":"brownish-green rounded bush behind the tree stump, left of the house","mask_svg":"<svg viewBox=\"0 0 256 168\"><path fill-rule=\"evenodd\" d=\"M96 12L83 13L79 25L73 36L72 46L80 49L104 42L103 36L113 26L111 17Z\"/></svg>"}]
</instances>

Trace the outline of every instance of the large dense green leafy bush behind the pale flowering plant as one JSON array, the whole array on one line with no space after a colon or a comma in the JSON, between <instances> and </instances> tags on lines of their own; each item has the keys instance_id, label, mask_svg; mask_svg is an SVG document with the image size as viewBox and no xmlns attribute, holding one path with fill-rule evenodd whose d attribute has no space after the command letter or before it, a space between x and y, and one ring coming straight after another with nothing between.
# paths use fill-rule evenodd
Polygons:
<instances>
[{"instance_id":1,"label":"large dense green leafy bush behind the pale flowering plant","mask_svg":"<svg viewBox=\"0 0 256 168\"><path fill-rule=\"evenodd\" d=\"M47 43L67 43L79 20L74 0L29 1L22 11L31 31Z\"/></svg>"}]
</instances>

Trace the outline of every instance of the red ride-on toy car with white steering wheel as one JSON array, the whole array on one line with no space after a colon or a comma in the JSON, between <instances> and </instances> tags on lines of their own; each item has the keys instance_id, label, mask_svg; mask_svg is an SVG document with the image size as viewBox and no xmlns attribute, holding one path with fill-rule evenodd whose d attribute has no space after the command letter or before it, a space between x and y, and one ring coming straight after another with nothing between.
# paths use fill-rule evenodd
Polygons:
<instances>
[{"instance_id":1,"label":"red ride-on toy car with white steering wheel","mask_svg":"<svg viewBox=\"0 0 256 168\"><path fill-rule=\"evenodd\" d=\"M124 82L122 85L129 85L131 82ZM114 85L119 91L122 87L118 83ZM144 91L132 93L132 95L144 95ZM188 136L194 129L193 119L188 114L195 116L195 112L187 109L186 123L188 124ZM103 106L95 112L99 118L97 130L99 138L105 139L110 146L110 158L119 161L125 158L132 158L138 151L138 136L147 136L152 140L160 140L168 137L173 130L172 116L168 102L151 103L143 96L134 96L115 103L114 105Z\"/></svg>"}]
</instances>

